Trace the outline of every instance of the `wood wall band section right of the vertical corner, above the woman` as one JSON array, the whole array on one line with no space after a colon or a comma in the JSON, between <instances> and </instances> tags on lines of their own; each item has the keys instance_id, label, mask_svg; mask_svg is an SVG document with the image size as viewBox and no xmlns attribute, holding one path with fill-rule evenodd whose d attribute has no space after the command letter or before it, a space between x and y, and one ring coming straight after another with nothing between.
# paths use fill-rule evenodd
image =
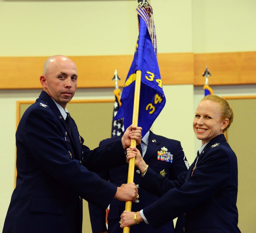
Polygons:
<instances>
[{"instance_id":1,"label":"wood wall band section right of the vertical corner, above the woman","mask_svg":"<svg viewBox=\"0 0 256 233\"><path fill-rule=\"evenodd\" d=\"M195 86L202 85L208 66L211 85L256 84L256 52L195 54Z\"/></svg>"}]
</instances>

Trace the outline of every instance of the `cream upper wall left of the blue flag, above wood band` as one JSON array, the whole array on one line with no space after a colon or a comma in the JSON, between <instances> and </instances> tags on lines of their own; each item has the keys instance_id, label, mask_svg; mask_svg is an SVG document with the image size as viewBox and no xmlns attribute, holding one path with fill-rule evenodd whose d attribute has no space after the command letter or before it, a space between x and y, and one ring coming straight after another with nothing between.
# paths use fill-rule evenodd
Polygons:
<instances>
[{"instance_id":1,"label":"cream upper wall left of the blue flag, above wood band","mask_svg":"<svg viewBox=\"0 0 256 233\"><path fill-rule=\"evenodd\" d=\"M133 54L133 1L0 1L1 56ZM8 46L9 45L9 46Z\"/></svg>"}]
</instances>

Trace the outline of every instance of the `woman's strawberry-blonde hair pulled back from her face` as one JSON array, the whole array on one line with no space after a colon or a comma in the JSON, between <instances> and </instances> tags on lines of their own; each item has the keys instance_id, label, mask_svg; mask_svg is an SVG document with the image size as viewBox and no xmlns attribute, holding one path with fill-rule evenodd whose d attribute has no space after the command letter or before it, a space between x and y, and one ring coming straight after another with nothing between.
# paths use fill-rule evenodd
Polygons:
<instances>
[{"instance_id":1,"label":"woman's strawberry-blonde hair pulled back from her face","mask_svg":"<svg viewBox=\"0 0 256 233\"><path fill-rule=\"evenodd\" d=\"M226 99L223 99L217 95L206 95L201 101L205 101L205 100L211 100L211 101L214 101L214 102L220 104L220 106L222 108L222 110L220 112L221 116L222 116L222 120L225 120L226 118L229 119L228 126L226 128L224 128L223 132L227 131L229 126L233 122L233 118L234 118L234 113L233 113L232 107L229 105L229 103L226 101Z\"/></svg>"}]
</instances>

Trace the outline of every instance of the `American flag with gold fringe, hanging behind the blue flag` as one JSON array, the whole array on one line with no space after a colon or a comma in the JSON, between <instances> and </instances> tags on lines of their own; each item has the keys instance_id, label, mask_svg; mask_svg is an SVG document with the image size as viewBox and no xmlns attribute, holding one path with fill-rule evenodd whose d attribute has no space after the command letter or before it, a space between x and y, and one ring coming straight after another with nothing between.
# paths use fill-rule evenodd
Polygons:
<instances>
[{"instance_id":1,"label":"American flag with gold fringe, hanging behind the blue flag","mask_svg":"<svg viewBox=\"0 0 256 233\"><path fill-rule=\"evenodd\" d=\"M121 106L120 95L119 95L120 89L115 89L114 94L115 94L115 103L114 103L113 118L115 117L119 107ZM120 135L123 135L123 133L124 133L123 118L119 120L113 120L111 137L113 138L115 136L120 136Z\"/></svg>"}]
</instances>

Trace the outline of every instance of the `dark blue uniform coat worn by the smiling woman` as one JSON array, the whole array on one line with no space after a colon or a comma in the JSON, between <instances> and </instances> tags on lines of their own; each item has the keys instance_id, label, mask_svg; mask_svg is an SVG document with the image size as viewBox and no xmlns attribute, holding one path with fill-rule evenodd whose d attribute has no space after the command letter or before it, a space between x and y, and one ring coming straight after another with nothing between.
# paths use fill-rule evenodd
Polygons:
<instances>
[{"instance_id":1,"label":"dark blue uniform coat worn by the smiling woman","mask_svg":"<svg viewBox=\"0 0 256 233\"><path fill-rule=\"evenodd\" d=\"M143 209L146 219L158 228L183 213L184 232L240 232L237 158L224 134L205 146L193 171L196 160L175 181L148 169L140 187L161 198Z\"/></svg>"}]
</instances>

